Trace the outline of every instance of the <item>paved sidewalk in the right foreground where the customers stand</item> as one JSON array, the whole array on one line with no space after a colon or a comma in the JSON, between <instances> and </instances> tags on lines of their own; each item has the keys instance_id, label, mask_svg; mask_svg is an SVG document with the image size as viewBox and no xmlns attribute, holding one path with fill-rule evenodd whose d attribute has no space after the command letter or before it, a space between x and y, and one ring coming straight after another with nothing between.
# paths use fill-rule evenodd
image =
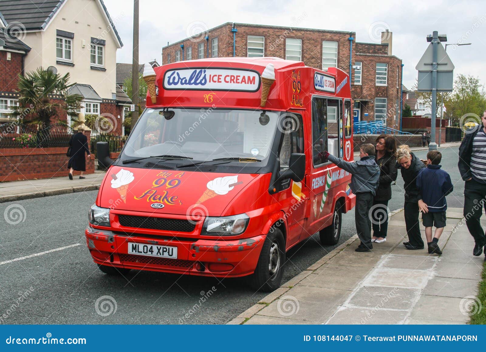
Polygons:
<instances>
[{"instance_id":1,"label":"paved sidewalk in the right foreground where the customers stand","mask_svg":"<svg viewBox=\"0 0 486 352\"><path fill-rule=\"evenodd\" d=\"M371 253L354 251L355 235L228 324L467 323L484 256L472 256L462 208L447 210L442 256L407 250L405 239L400 209L392 213L387 241L374 243Z\"/></svg>"}]
</instances>

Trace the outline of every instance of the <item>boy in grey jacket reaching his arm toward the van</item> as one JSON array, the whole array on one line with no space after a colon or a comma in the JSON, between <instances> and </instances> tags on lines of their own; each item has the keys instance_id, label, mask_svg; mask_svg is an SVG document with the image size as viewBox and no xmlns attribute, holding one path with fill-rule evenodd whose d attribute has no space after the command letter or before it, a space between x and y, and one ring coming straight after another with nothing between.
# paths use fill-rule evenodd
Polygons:
<instances>
[{"instance_id":1,"label":"boy in grey jacket reaching his arm toward the van","mask_svg":"<svg viewBox=\"0 0 486 352\"><path fill-rule=\"evenodd\" d=\"M336 166L341 167L351 174L349 187L356 195L356 207L354 218L356 232L361 244L356 252L368 252L373 248L371 243L371 216L370 209L373 205L373 197L380 184L380 167L375 162L375 146L364 144L360 147L361 160L350 163L343 159L336 158L328 152L324 156Z\"/></svg>"}]
</instances>

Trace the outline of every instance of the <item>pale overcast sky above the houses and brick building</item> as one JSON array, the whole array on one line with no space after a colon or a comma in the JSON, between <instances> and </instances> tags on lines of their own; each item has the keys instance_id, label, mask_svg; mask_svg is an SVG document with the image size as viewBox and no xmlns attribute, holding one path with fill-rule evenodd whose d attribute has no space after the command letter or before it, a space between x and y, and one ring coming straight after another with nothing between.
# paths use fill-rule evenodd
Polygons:
<instances>
[{"instance_id":1,"label":"pale overcast sky above the houses and brick building","mask_svg":"<svg viewBox=\"0 0 486 352\"><path fill-rule=\"evenodd\" d=\"M484 0L296 1L296 0L140 0L140 63L161 62L162 47L225 22L266 24L356 32L359 42L380 42L393 32L393 55L403 60L403 84L417 78L415 66L427 48L426 36L447 35L447 53L457 74L472 74L486 83L486 6ZM133 0L104 0L123 41L117 62L132 62ZM445 44L445 43L444 43Z\"/></svg>"}]
</instances>

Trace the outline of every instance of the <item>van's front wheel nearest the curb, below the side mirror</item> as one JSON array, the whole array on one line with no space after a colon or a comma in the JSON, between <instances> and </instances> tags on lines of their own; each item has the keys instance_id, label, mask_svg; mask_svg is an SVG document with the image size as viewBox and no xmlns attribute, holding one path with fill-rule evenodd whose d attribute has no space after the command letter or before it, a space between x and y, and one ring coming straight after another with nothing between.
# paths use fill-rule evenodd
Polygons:
<instances>
[{"instance_id":1,"label":"van's front wheel nearest the curb, below the side mirror","mask_svg":"<svg viewBox=\"0 0 486 352\"><path fill-rule=\"evenodd\" d=\"M285 263L285 240L282 231L273 228L261 248L255 272L250 276L250 284L255 290L272 292L282 281Z\"/></svg>"}]
</instances>

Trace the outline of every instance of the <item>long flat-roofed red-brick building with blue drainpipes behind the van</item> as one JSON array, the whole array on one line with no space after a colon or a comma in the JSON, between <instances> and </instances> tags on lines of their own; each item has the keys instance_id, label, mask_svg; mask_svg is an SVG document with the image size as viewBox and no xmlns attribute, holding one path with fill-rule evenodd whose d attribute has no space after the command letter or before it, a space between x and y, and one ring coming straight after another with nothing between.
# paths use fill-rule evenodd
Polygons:
<instances>
[{"instance_id":1,"label":"long flat-roofed red-brick building with blue drainpipes behind the van","mask_svg":"<svg viewBox=\"0 0 486 352\"><path fill-rule=\"evenodd\" d=\"M388 127L399 129L401 59L392 55L391 32L383 32L381 41L357 42L355 32L227 22L163 47L162 64L218 56L276 56L323 70L351 70L354 121L386 120Z\"/></svg>"}]
</instances>

